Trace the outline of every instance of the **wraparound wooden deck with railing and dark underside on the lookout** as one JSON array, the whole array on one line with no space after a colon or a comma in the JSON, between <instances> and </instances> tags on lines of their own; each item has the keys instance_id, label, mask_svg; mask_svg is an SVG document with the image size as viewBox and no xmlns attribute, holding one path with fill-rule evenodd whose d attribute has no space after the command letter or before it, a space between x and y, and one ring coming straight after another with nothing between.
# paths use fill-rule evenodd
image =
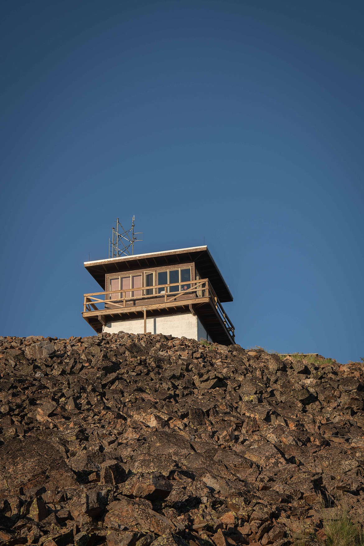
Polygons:
<instances>
[{"instance_id":1,"label":"wraparound wooden deck with railing and dark underside on the lookout","mask_svg":"<svg viewBox=\"0 0 364 546\"><path fill-rule=\"evenodd\" d=\"M183 289L185 286L187 289ZM82 316L99 333L109 322L183 311L196 314L213 341L235 343L234 325L207 278L84 294Z\"/></svg>"}]
</instances>

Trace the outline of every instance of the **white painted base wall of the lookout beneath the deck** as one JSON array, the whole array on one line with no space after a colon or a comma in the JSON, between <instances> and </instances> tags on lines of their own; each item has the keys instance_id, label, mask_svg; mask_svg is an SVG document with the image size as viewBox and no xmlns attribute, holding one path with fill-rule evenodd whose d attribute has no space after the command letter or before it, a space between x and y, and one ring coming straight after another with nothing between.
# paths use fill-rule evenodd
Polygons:
<instances>
[{"instance_id":1,"label":"white painted base wall of the lookout beneath the deck","mask_svg":"<svg viewBox=\"0 0 364 546\"><path fill-rule=\"evenodd\" d=\"M143 318L129 318L126 321L109 322L103 328L104 332L115 334L123 331L129 334L144 333ZM162 317L147 317L147 332L152 334L188 337L189 339L207 339L206 330L199 319L192 313L176 313ZM211 341L208 339L208 341Z\"/></svg>"}]
</instances>

